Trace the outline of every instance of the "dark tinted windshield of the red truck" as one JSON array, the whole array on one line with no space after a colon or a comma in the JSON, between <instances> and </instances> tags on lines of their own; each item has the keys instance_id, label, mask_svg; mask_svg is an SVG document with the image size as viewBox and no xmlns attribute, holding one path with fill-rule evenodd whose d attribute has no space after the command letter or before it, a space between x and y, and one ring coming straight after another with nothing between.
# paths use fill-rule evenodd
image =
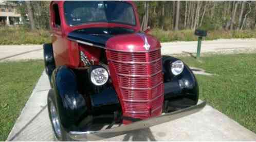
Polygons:
<instances>
[{"instance_id":1,"label":"dark tinted windshield of the red truck","mask_svg":"<svg viewBox=\"0 0 256 142\"><path fill-rule=\"evenodd\" d=\"M118 1L66 1L64 3L66 22L69 26L88 22L121 23L136 25L131 4Z\"/></svg>"}]
</instances>

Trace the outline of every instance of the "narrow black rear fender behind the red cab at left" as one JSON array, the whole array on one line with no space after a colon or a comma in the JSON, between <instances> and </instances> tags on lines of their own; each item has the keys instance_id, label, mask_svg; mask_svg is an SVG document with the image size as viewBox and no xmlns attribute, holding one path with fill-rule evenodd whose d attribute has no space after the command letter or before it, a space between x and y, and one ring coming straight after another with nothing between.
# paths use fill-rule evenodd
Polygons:
<instances>
[{"instance_id":1,"label":"narrow black rear fender behind the red cab at left","mask_svg":"<svg viewBox=\"0 0 256 142\"><path fill-rule=\"evenodd\" d=\"M49 77L49 81L51 82L51 74L53 70L56 68L53 49L51 43L46 43L43 45L44 48L44 64L45 64L45 72Z\"/></svg>"}]
</instances>

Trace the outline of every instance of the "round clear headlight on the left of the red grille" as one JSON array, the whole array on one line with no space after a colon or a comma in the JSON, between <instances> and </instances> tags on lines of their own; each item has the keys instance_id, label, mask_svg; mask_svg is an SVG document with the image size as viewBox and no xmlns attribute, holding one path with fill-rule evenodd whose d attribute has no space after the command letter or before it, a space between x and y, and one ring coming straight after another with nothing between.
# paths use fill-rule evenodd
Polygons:
<instances>
[{"instance_id":1,"label":"round clear headlight on the left of the red grille","mask_svg":"<svg viewBox=\"0 0 256 142\"><path fill-rule=\"evenodd\" d=\"M103 67L97 67L90 72L90 80L94 85L101 86L108 80L108 72Z\"/></svg>"}]
</instances>

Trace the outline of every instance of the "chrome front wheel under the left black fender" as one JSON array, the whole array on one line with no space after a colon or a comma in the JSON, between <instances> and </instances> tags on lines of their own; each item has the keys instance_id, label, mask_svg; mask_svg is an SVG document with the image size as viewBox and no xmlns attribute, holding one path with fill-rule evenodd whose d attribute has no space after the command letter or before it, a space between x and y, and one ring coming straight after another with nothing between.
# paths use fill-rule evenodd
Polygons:
<instances>
[{"instance_id":1,"label":"chrome front wheel under the left black fender","mask_svg":"<svg viewBox=\"0 0 256 142\"><path fill-rule=\"evenodd\" d=\"M58 113L56 107L54 106L53 102L50 103L50 112L51 112L51 122L53 125L53 129L56 132L58 137L61 137L61 125L60 120L58 117Z\"/></svg>"}]
</instances>

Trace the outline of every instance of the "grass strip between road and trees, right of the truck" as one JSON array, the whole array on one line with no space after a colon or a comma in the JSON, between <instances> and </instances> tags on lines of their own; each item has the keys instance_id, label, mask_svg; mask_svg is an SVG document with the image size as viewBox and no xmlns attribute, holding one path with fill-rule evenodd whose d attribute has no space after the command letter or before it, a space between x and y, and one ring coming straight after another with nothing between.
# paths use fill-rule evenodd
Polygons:
<instances>
[{"instance_id":1,"label":"grass strip between road and trees, right of the truck","mask_svg":"<svg viewBox=\"0 0 256 142\"><path fill-rule=\"evenodd\" d=\"M195 41L197 36L194 35L192 30L180 30L180 31L163 31L160 29L153 29L150 32L157 37L161 42L168 41ZM225 31L215 30L208 31L207 37L204 40L214 40L220 38L256 38L256 30L244 30L244 31Z\"/></svg>"}]
</instances>

